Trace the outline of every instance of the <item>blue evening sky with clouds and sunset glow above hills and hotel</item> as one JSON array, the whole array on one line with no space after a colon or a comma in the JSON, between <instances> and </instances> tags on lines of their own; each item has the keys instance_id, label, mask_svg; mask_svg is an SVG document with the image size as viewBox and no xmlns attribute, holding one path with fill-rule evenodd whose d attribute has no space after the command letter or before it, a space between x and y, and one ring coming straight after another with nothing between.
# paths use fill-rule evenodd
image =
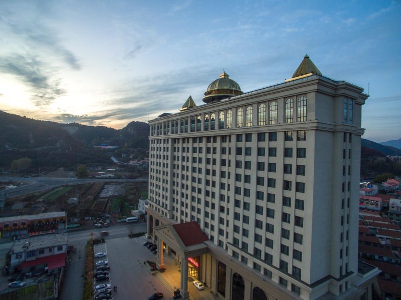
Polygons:
<instances>
[{"instance_id":1,"label":"blue evening sky with clouds and sunset glow above hills and hotel","mask_svg":"<svg viewBox=\"0 0 401 300\"><path fill-rule=\"evenodd\" d=\"M284 82L305 54L369 94L364 138L401 138L400 0L0 0L0 110L120 129L202 105L223 70Z\"/></svg>"}]
</instances>

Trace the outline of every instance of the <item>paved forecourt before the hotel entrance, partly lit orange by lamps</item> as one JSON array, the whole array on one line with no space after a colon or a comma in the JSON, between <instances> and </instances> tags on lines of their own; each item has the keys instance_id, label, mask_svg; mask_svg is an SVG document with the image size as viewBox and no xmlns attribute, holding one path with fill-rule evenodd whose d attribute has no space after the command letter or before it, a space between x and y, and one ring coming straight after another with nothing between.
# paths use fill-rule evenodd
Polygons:
<instances>
[{"instance_id":1,"label":"paved forecourt before the hotel entrance, partly lit orange by lamps","mask_svg":"<svg viewBox=\"0 0 401 300\"><path fill-rule=\"evenodd\" d=\"M146 240L144 236L110 239L106 237L105 243L95 245L95 253L107 253L107 258L100 257L96 258L95 261L108 260L110 280L99 283L110 283L113 300L147 299L154 292L162 292L164 299L169 299L174 288L179 287L179 265L176 264L172 256L164 254L165 272L151 275L144 261L157 261L157 257L142 245L142 242ZM204 290L197 290L191 282L193 279L188 279L190 281L188 282L188 290L191 299L217 299L210 292L209 287ZM113 291L113 286L117 286L117 291Z\"/></svg>"}]
</instances>

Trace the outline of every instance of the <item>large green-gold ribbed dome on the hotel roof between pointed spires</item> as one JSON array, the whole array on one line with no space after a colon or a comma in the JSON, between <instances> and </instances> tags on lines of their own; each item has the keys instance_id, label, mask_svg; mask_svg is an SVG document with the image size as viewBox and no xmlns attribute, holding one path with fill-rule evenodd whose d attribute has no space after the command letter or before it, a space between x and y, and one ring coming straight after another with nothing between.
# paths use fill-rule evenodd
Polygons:
<instances>
[{"instance_id":1,"label":"large green-gold ribbed dome on the hotel roof between pointed spires","mask_svg":"<svg viewBox=\"0 0 401 300\"><path fill-rule=\"evenodd\" d=\"M216 79L208 86L205 97L202 100L205 103L209 103L243 94L240 85L229 77L230 76L226 72L223 72L220 78Z\"/></svg>"}]
</instances>

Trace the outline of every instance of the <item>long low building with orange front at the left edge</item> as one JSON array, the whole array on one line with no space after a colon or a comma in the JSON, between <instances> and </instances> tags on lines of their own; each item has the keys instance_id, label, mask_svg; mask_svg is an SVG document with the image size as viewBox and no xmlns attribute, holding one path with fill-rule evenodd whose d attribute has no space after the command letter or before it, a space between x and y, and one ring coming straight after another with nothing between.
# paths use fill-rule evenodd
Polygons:
<instances>
[{"instance_id":1,"label":"long low building with orange front at the left edge","mask_svg":"<svg viewBox=\"0 0 401 300\"><path fill-rule=\"evenodd\" d=\"M66 231L66 212L46 212L0 218L0 237L59 233Z\"/></svg>"}]
</instances>

